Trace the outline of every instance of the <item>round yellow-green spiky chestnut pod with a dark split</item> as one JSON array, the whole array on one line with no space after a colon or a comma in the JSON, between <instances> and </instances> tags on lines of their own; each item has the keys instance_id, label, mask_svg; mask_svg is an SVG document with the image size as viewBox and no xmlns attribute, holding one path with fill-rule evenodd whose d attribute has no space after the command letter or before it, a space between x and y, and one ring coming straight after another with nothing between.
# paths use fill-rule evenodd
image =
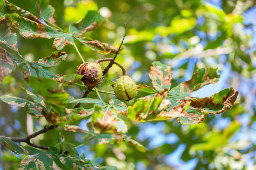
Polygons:
<instances>
[{"instance_id":1,"label":"round yellow-green spiky chestnut pod with a dark split","mask_svg":"<svg viewBox=\"0 0 256 170\"><path fill-rule=\"evenodd\" d=\"M129 76L121 76L116 80L114 92L117 99L129 101L137 95L137 85Z\"/></svg>"}]
</instances>

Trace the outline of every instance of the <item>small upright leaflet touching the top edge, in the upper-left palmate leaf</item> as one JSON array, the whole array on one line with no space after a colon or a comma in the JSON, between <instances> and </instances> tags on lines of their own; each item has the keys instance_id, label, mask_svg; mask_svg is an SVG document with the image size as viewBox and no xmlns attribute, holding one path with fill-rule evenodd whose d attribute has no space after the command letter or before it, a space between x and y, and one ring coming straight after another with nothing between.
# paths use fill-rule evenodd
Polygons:
<instances>
[{"instance_id":1,"label":"small upright leaflet touching the top edge, in the upper-left palmate leaf","mask_svg":"<svg viewBox=\"0 0 256 170\"><path fill-rule=\"evenodd\" d=\"M37 3L38 13L46 23L52 23L55 25L56 24L56 19L54 16L55 9L51 5L49 5L49 1L50 0L38 0L38 3Z\"/></svg>"}]
</instances>

